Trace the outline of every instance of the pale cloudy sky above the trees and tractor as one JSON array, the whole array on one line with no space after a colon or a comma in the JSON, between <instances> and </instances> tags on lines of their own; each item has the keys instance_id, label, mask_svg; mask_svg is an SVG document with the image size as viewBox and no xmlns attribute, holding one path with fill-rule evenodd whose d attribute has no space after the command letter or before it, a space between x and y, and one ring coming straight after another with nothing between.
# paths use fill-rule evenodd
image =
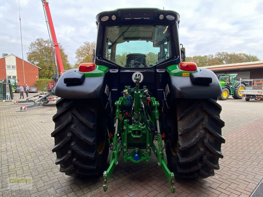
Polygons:
<instances>
[{"instance_id":1,"label":"pale cloudy sky above the trees and tractor","mask_svg":"<svg viewBox=\"0 0 263 197\"><path fill-rule=\"evenodd\" d=\"M70 64L85 41L96 41L95 16L102 11L129 7L156 7L180 14L180 43L186 56L218 51L257 55L263 60L263 1L84 1L49 0L57 40ZM36 38L48 38L41 0L20 0L24 59ZM22 57L18 0L0 0L1 53Z\"/></svg>"}]
</instances>

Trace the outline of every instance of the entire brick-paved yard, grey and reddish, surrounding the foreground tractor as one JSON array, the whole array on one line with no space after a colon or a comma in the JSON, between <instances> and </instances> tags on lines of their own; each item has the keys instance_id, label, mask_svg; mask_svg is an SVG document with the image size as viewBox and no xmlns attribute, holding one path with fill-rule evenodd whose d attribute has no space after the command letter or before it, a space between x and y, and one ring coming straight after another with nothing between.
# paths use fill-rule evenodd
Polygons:
<instances>
[{"instance_id":1,"label":"entire brick-paved yard, grey and reddish, surrounding the foreground tractor","mask_svg":"<svg viewBox=\"0 0 263 197\"><path fill-rule=\"evenodd\" d=\"M27 112L16 112L23 104L0 102L0 196L249 196L263 178L263 102L229 98L219 103L226 123L220 170L208 179L176 179L176 193L171 194L155 157L140 164L124 163L120 157L106 193L102 177L60 173L51 152L55 102ZM11 188L10 178L30 178L31 184Z\"/></svg>"}]
</instances>

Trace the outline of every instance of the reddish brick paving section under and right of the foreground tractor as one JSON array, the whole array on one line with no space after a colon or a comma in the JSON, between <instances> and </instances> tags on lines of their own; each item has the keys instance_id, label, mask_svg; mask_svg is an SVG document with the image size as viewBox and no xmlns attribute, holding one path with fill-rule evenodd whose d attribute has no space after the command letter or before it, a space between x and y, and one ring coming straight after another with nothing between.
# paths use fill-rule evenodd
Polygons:
<instances>
[{"instance_id":1,"label":"reddish brick paving section under and right of the foreground tractor","mask_svg":"<svg viewBox=\"0 0 263 197\"><path fill-rule=\"evenodd\" d=\"M263 178L263 118L227 133L222 146L224 158L220 170L207 179L176 179L176 193L171 194L160 167L139 170L100 196L249 196ZM138 167L137 167L138 169ZM117 169L115 169L117 170ZM131 171L131 173L133 173ZM113 190L118 189L118 190Z\"/></svg>"}]
</instances>

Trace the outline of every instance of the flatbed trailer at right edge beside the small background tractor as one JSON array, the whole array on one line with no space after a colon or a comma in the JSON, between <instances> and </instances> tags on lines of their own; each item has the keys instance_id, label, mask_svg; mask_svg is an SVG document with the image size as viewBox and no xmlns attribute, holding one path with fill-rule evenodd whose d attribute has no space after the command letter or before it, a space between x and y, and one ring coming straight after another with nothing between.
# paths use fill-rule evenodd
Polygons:
<instances>
[{"instance_id":1,"label":"flatbed trailer at right edge beside the small background tractor","mask_svg":"<svg viewBox=\"0 0 263 197\"><path fill-rule=\"evenodd\" d=\"M248 84L246 90L240 90L240 94L246 101L263 100L263 79L243 79L242 81Z\"/></svg>"}]
</instances>

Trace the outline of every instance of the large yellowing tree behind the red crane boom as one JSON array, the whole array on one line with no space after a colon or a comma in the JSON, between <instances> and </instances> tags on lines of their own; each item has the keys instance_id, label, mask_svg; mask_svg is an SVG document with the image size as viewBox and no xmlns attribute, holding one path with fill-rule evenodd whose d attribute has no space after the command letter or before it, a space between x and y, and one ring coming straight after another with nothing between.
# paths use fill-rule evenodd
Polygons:
<instances>
[{"instance_id":1,"label":"large yellowing tree behind the red crane boom","mask_svg":"<svg viewBox=\"0 0 263 197\"><path fill-rule=\"evenodd\" d=\"M53 65L55 66L55 63L54 52L50 47L50 40L37 38L34 42L30 43L28 49L29 51L27 52L27 61L42 68L39 70L39 77L51 78L54 72ZM59 49L64 69L71 69L65 49L62 47L62 45L59 45Z\"/></svg>"}]
</instances>

